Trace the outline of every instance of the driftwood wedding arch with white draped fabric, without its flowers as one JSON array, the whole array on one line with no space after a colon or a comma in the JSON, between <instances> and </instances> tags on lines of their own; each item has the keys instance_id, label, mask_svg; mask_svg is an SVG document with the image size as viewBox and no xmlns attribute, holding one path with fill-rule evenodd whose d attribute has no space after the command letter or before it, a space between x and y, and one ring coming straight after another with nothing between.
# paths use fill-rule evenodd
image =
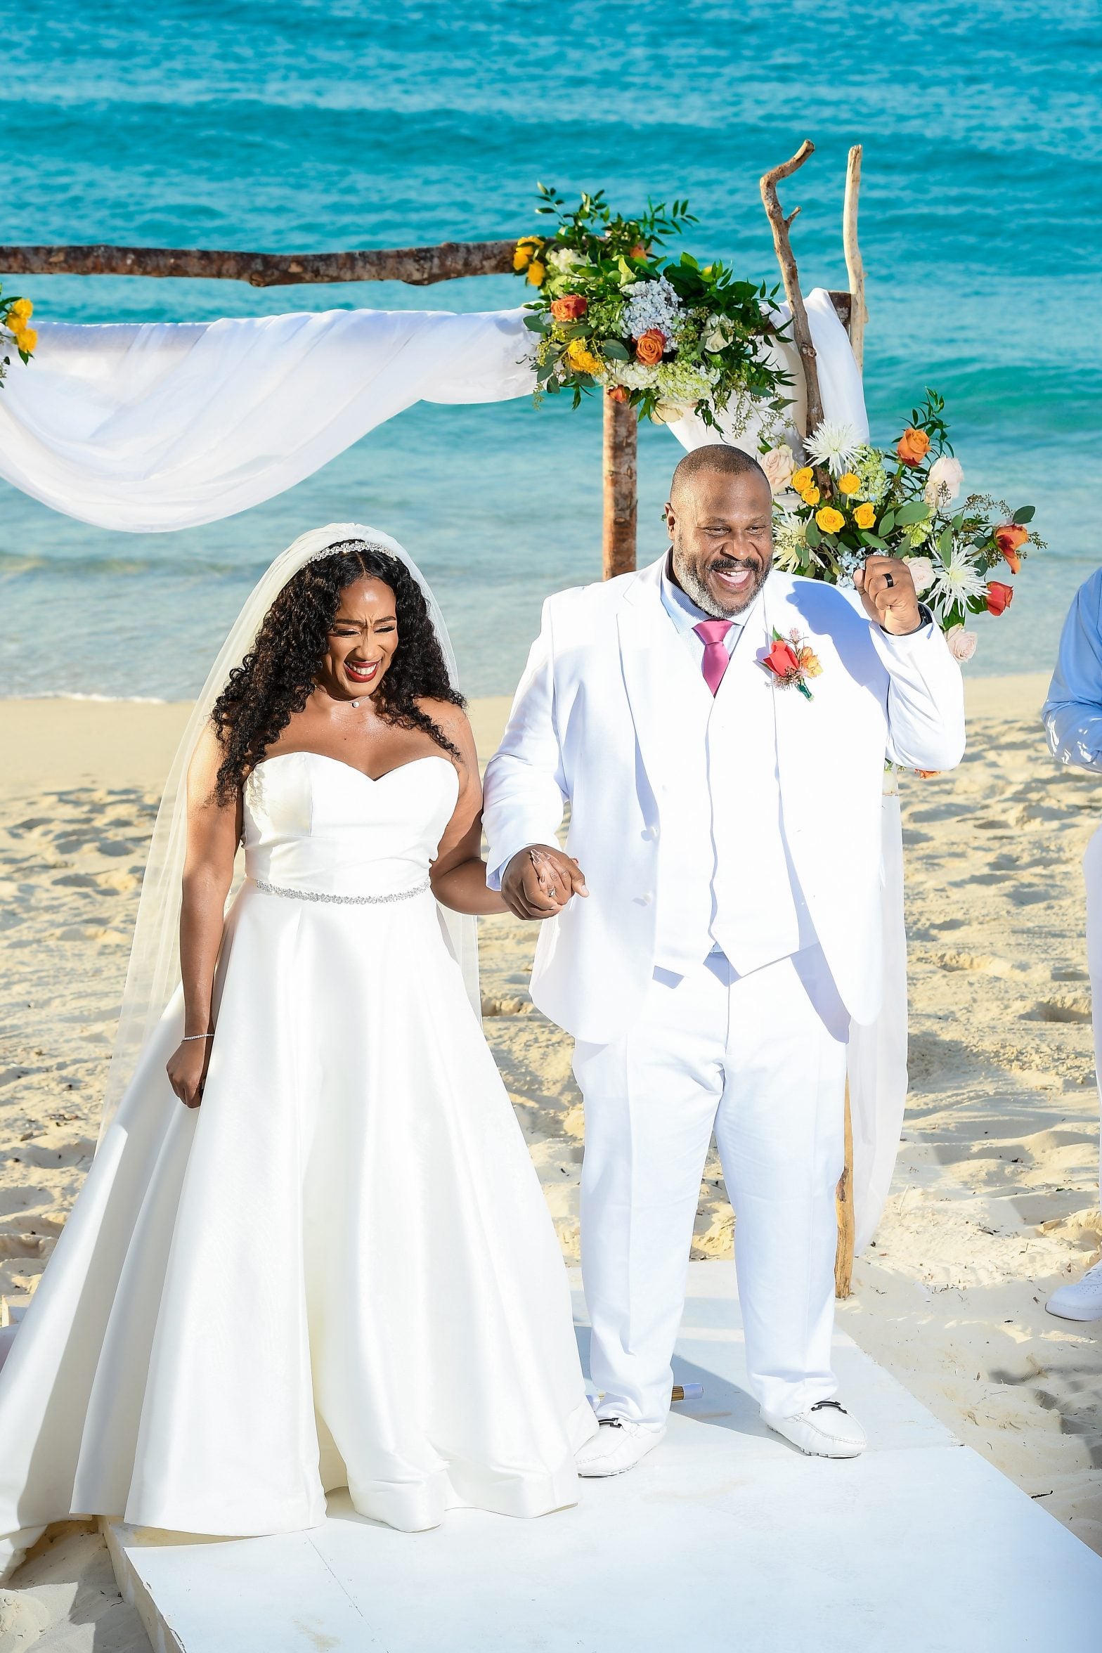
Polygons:
<instances>
[{"instance_id":1,"label":"driftwood wedding arch with white draped fabric, without its flowers","mask_svg":"<svg viewBox=\"0 0 1102 1653\"><path fill-rule=\"evenodd\" d=\"M844 420L862 440L864 269L857 243L861 145L849 150L843 207L848 291L803 294L791 248L796 207L778 185L815 152L765 172L760 193L785 304L773 350L793 387L798 441ZM5 274L124 274L246 281L256 288L401 281L431 286L514 269L519 238L347 253L236 253L127 246L0 246ZM522 309L330 311L183 324L45 324L33 365L0 393L0 476L51 509L126 532L216 521L294 486L416 400L474 403L532 392ZM603 575L636 565L636 412L605 393ZM730 440L687 415L686 446ZM836 1289L848 1296L854 1248L876 1230L891 1184L907 1088L902 836L897 800L884 818L886 1008L854 1033L846 1099L846 1169L838 1189ZM854 1192L856 1190L856 1192Z\"/></svg>"}]
</instances>

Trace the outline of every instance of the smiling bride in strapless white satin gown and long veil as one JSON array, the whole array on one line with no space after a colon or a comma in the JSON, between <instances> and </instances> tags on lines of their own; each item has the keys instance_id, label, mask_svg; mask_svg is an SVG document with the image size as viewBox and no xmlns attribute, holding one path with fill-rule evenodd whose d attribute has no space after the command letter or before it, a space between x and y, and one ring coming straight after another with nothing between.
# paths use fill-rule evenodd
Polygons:
<instances>
[{"instance_id":1,"label":"smiling bride in strapless white satin gown and long veil","mask_svg":"<svg viewBox=\"0 0 1102 1653\"><path fill-rule=\"evenodd\" d=\"M502 911L479 830L416 567L302 536L169 779L101 1146L0 1372L8 1564L69 1514L246 1536L321 1524L335 1486L405 1531L575 1501L565 1271L468 997L459 914Z\"/></svg>"}]
</instances>

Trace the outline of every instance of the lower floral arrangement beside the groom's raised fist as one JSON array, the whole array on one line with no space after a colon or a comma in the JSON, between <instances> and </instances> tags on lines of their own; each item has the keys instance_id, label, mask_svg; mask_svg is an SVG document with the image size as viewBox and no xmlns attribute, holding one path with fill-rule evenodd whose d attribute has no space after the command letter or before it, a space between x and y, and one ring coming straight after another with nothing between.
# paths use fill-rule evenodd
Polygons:
<instances>
[{"instance_id":1,"label":"lower floral arrangement beside the groom's raised fist","mask_svg":"<svg viewBox=\"0 0 1102 1653\"><path fill-rule=\"evenodd\" d=\"M775 562L851 585L869 552L905 557L915 590L945 631L957 660L975 655L968 615L1001 615L1014 588L988 579L1000 565L1018 574L1034 507L1011 511L1003 499L968 494L957 504L963 468L953 456L945 402L927 390L892 450L857 441L849 425L823 422L805 441L798 466L780 443L762 455L773 489Z\"/></svg>"}]
</instances>

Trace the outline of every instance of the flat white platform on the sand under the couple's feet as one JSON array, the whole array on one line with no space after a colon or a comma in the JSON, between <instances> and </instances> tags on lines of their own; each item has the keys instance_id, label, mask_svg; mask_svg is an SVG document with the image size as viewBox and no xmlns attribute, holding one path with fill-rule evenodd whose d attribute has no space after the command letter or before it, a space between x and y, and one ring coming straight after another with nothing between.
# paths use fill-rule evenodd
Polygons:
<instances>
[{"instance_id":1,"label":"flat white platform on the sand under the couple's feet","mask_svg":"<svg viewBox=\"0 0 1102 1653\"><path fill-rule=\"evenodd\" d=\"M577 1509L401 1534L337 1494L284 1537L107 1527L157 1653L1099 1653L1100 1557L848 1337L869 1451L803 1458L742 1389L734 1266L689 1293L676 1377L704 1400Z\"/></svg>"}]
</instances>

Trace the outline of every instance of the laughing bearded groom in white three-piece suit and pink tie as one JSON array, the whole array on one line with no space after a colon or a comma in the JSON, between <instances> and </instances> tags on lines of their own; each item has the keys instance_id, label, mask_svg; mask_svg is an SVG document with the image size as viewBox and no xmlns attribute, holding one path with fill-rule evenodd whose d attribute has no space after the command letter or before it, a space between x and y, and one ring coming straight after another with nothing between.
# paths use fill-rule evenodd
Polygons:
<instances>
[{"instance_id":1,"label":"laughing bearded groom in white three-piece suit and pink tie","mask_svg":"<svg viewBox=\"0 0 1102 1653\"><path fill-rule=\"evenodd\" d=\"M806 1453L862 1450L833 1398L834 1185L849 1023L881 998L881 780L965 744L905 562L869 557L854 602L770 572L770 484L729 446L686 455L666 526L651 567L547 600L486 772L489 881L547 921L532 998L585 1096L583 1474L664 1435L712 1132L762 1417ZM795 683L765 665L777 633L810 650Z\"/></svg>"}]
</instances>

